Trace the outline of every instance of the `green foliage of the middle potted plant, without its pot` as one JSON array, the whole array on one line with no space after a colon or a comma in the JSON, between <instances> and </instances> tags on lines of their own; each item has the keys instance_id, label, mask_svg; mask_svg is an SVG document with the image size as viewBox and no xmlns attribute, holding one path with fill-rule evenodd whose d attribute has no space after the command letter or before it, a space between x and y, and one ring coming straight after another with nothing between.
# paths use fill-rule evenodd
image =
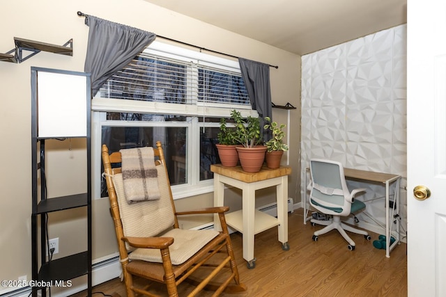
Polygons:
<instances>
[{"instance_id":1,"label":"green foliage of the middle potted plant, without its pot","mask_svg":"<svg viewBox=\"0 0 446 297\"><path fill-rule=\"evenodd\" d=\"M236 141L243 147L255 147L261 143L259 118L242 118L240 111L231 111L231 118L236 123Z\"/></svg>"}]
</instances>

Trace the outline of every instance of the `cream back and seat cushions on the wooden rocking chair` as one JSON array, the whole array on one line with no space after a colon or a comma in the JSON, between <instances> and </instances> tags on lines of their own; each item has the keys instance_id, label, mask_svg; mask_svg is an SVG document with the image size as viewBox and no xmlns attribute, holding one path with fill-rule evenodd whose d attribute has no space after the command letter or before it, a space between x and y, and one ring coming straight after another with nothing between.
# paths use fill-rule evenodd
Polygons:
<instances>
[{"instance_id":1,"label":"cream back and seat cushions on the wooden rocking chair","mask_svg":"<svg viewBox=\"0 0 446 297\"><path fill-rule=\"evenodd\" d=\"M113 175L113 184L118 197L118 207L121 214L124 236L174 238L169 246L171 262L179 265L198 252L219 232L215 230L182 230L172 229L174 213L164 166L156 166L158 171L158 186L161 198L159 200L144 201L128 204L125 199L123 178L121 173ZM169 230L169 231L167 231ZM132 249L128 246L130 259L162 263L160 250L151 248Z\"/></svg>"}]
</instances>

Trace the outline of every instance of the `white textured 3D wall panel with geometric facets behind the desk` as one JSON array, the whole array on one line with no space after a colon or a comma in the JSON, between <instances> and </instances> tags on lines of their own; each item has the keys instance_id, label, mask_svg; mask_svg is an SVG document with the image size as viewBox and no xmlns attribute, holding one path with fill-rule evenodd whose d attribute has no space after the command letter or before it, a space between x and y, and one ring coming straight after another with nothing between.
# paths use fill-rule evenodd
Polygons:
<instances>
[{"instance_id":1,"label":"white textured 3D wall panel with geometric facets behind the desk","mask_svg":"<svg viewBox=\"0 0 446 297\"><path fill-rule=\"evenodd\" d=\"M406 218L406 25L302 56L301 135L302 168L324 158L401 175ZM385 188L360 186L369 188L367 211L384 222Z\"/></svg>"}]
</instances>

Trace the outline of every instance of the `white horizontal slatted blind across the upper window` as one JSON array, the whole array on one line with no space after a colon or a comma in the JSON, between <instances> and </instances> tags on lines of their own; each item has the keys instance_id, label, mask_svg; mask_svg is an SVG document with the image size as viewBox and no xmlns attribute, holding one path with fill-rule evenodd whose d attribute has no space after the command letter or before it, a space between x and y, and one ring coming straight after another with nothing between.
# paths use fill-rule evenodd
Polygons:
<instances>
[{"instance_id":1,"label":"white horizontal slatted blind across the upper window","mask_svg":"<svg viewBox=\"0 0 446 297\"><path fill-rule=\"evenodd\" d=\"M140 54L100 88L100 97L171 104L249 105L240 73L209 63Z\"/></svg>"}]
</instances>

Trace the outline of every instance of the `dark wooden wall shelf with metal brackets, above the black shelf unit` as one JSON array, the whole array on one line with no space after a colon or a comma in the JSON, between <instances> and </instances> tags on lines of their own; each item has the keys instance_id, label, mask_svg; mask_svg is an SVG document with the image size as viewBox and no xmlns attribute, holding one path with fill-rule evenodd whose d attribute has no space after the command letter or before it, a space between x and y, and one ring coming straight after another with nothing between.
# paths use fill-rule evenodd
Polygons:
<instances>
[{"instance_id":1,"label":"dark wooden wall shelf with metal brackets, above the black shelf unit","mask_svg":"<svg viewBox=\"0 0 446 297\"><path fill-rule=\"evenodd\" d=\"M45 42L27 40L18 37L14 38L14 42L15 49L11 49L6 54L0 54L0 61L22 63L40 53L40 51L72 56L72 39L68 40L64 45L52 45ZM27 55L25 55L26 52L28 53Z\"/></svg>"}]
</instances>

